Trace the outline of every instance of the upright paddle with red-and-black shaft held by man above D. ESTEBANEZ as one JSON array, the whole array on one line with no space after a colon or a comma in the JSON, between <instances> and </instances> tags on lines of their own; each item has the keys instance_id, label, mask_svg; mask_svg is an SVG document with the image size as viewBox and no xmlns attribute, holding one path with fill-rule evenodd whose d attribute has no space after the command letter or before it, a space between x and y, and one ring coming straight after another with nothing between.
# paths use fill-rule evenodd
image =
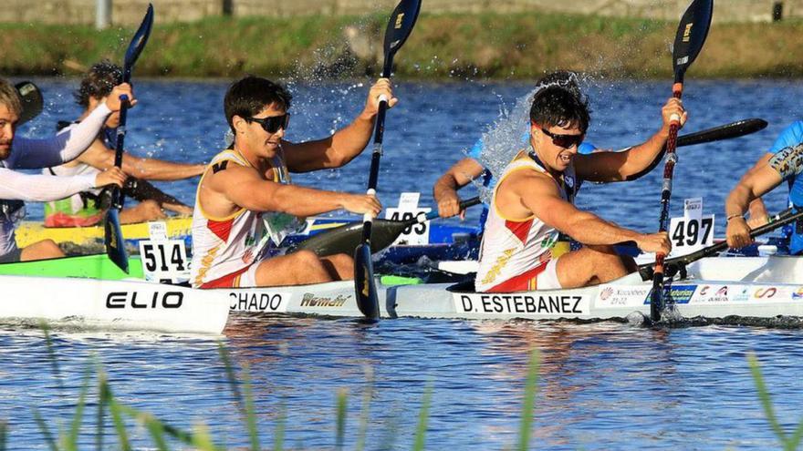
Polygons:
<instances>
[{"instance_id":1,"label":"upright paddle with red-and-black shaft held by man above D. ESTEBANEZ","mask_svg":"<svg viewBox=\"0 0 803 451\"><path fill-rule=\"evenodd\" d=\"M683 97L683 76L686 69L691 66L700 50L703 49L705 37L711 26L711 16L714 13L714 0L693 0L681 17L677 33L674 38L673 69L674 85L673 97ZM681 118L674 116L669 128L669 138L666 141L666 163L663 167L663 189L661 192L661 217L658 231L665 232L669 227L669 200L672 197L672 178L674 164L677 161L675 149L677 147L677 132L680 128ZM662 252L655 255L655 274L652 277L652 294L650 304L650 318L653 322L661 319L663 310L663 259Z\"/></svg>"}]
</instances>

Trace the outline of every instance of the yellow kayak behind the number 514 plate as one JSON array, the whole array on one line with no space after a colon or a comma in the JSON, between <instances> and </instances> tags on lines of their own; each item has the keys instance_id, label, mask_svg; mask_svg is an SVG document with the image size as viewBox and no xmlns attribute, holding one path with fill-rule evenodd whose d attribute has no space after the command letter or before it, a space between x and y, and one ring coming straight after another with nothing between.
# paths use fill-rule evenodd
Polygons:
<instances>
[{"instance_id":1,"label":"yellow kayak behind the number 514 plate","mask_svg":"<svg viewBox=\"0 0 803 451\"><path fill-rule=\"evenodd\" d=\"M191 234L193 226L192 217L174 217L159 220L167 224L168 238L183 240ZM94 242L103 242L103 227L63 227L51 228L44 227L41 222L34 220L24 220L16 228L16 245L25 247L36 241L50 240L61 242L73 242L78 245L88 245ZM139 222L136 224L124 224L122 226L122 236L126 241L139 241L149 238L148 223Z\"/></svg>"}]
</instances>

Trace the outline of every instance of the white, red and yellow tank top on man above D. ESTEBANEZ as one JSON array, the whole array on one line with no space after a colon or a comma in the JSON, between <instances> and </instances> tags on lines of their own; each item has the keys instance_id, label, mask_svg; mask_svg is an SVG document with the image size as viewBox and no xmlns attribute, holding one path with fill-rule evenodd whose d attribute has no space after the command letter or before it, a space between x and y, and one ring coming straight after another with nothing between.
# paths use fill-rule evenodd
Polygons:
<instances>
[{"instance_id":1,"label":"white, red and yellow tank top on man above D. ESTEBANEZ","mask_svg":"<svg viewBox=\"0 0 803 451\"><path fill-rule=\"evenodd\" d=\"M516 170L537 170L551 177L549 172L530 157L513 160L502 172L496 183L485 233L480 248L479 269L474 282L478 292L485 292L499 283L506 282L524 272L546 264L552 258L552 247L558 241L559 232L547 226L535 215L523 220L506 219L496 206L496 192L511 173ZM566 188L558 183L560 196L569 202L574 200L577 187L574 166L563 171Z\"/></svg>"}]
</instances>

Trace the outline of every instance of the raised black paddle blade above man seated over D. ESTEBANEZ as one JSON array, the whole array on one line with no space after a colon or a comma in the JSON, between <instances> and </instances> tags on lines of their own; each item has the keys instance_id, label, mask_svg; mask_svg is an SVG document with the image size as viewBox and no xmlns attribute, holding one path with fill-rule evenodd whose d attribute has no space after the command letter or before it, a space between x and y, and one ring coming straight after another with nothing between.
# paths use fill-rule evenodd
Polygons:
<instances>
[{"instance_id":1,"label":"raised black paddle blade above man seated over D. ESTEBANEZ","mask_svg":"<svg viewBox=\"0 0 803 451\"><path fill-rule=\"evenodd\" d=\"M681 17L674 37L673 67L675 83L683 83L683 74L691 66L711 28L714 0L692 0Z\"/></svg>"}]
</instances>

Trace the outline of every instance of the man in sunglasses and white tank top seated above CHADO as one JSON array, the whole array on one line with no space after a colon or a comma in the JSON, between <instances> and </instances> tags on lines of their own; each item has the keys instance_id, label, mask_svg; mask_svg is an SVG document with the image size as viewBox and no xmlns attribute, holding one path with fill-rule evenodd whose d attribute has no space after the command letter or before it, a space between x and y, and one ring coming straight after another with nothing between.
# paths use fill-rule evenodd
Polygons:
<instances>
[{"instance_id":1,"label":"man in sunglasses and white tank top seated above CHADO","mask_svg":"<svg viewBox=\"0 0 803 451\"><path fill-rule=\"evenodd\" d=\"M360 115L327 138L294 143L285 139L291 96L261 77L228 88L225 117L234 142L203 173L193 212L193 286L297 285L353 278L346 254L318 257L312 251L271 256L304 217L345 209L376 216L374 196L314 190L290 183L289 172L339 168L365 149L379 97L396 104L391 82L380 79Z\"/></svg>"}]
</instances>

